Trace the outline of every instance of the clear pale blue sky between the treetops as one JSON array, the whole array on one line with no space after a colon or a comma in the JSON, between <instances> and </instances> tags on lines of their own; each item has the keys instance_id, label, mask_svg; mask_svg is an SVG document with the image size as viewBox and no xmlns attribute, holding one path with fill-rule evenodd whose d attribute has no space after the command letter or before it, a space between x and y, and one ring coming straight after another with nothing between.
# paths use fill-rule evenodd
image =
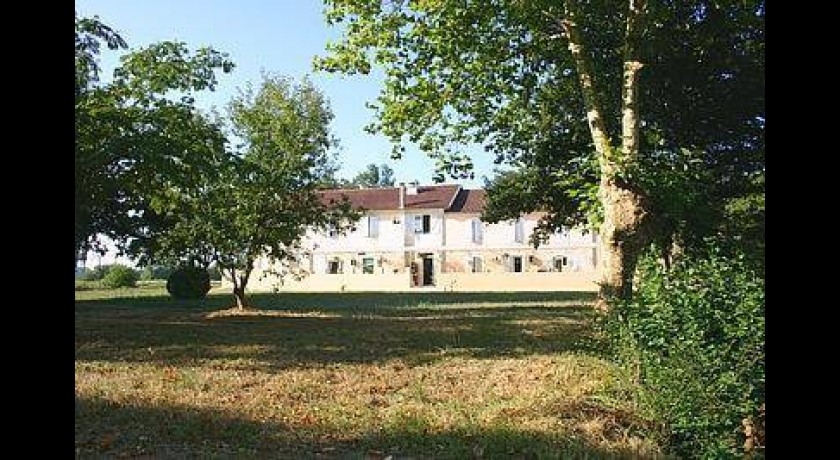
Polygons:
<instances>
[{"instance_id":1,"label":"clear pale blue sky between the treetops","mask_svg":"<svg viewBox=\"0 0 840 460\"><path fill-rule=\"evenodd\" d=\"M365 102L379 93L381 74L349 77L312 70L313 56L323 54L326 43L340 37L338 29L327 26L322 10L320 0L76 0L79 15L98 15L130 49L180 40L192 49L212 46L227 52L237 67L221 74L215 92L196 98L205 109L224 107L245 82L258 83L262 70L295 79L311 75L335 114L332 129L340 142L341 177L353 177L369 163L386 163L397 182L431 183L434 165L424 154L409 148L401 160L391 160L389 142L363 131L373 117ZM104 50L105 72L116 63L117 53ZM480 187L482 176L492 176L492 159L476 147L467 152L473 153L476 179L457 182Z\"/></svg>"}]
</instances>

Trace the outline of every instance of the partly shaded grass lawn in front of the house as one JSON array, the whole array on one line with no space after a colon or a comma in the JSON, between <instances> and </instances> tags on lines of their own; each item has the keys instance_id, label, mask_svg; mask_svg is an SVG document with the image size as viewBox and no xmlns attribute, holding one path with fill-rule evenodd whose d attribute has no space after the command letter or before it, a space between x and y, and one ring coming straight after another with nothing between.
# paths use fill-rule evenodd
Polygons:
<instances>
[{"instance_id":1,"label":"partly shaded grass lawn in front of the house","mask_svg":"<svg viewBox=\"0 0 840 460\"><path fill-rule=\"evenodd\" d=\"M598 352L591 294L252 299L271 314L77 286L77 457L658 453Z\"/></svg>"}]
</instances>

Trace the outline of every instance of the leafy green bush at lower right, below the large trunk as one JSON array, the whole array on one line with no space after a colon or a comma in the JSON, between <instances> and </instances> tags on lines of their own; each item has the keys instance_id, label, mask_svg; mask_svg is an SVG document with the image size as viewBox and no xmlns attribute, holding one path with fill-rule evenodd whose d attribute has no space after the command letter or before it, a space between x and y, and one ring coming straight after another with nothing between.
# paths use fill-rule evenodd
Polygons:
<instances>
[{"instance_id":1,"label":"leafy green bush at lower right, below the large trunk","mask_svg":"<svg viewBox=\"0 0 840 460\"><path fill-rule=\"evenodd\" d=\"M765 398L763 277L710 244L671 270L649 255L639 280L604 326L640 402L674 453L740 457L742 421L759 418Z\"/></svg>"}]
</instances>

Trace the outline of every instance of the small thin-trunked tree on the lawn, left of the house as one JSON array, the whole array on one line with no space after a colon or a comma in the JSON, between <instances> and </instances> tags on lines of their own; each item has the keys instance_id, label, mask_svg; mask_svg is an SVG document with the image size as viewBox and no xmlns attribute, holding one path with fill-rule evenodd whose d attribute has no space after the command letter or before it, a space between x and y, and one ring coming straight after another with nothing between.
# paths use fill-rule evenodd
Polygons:
<instances>
[{"instance_id":1,"label":"small thin-trunked tree on the lawn, left of the house","mask_svg":"<svg viewBox=\"0 0 840 460\"><path fill-rule=\"evenodd\" d=\"M265 75L228 106L228 149L201 186L170 189L156 211L172 225L156 235L153 259L215 261L233 283L236 307L250 307L246 287L255 262L293 261L309 230L346 229L357 220L347 200L323 202L335 142L328 101L309 80Z\"/></svg>"}]
</instances>

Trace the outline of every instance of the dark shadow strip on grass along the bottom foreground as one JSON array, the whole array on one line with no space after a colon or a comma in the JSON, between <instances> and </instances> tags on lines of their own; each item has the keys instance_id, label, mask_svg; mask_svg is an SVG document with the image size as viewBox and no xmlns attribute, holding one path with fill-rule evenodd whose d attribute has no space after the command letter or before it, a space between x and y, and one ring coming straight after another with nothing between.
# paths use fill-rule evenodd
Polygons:
<instances>
[{"instance_id":1,"label":"dark shadow strip on grass along the bottom foreground","mask_svg":"<svg viewBox=\"0 0 840 460\"><path fill-rule=\"evenodd\" d=\"M324 420L254 421L216 409L76 398L76 458L640 458L580 433L512 426L430 429L419 418L363 434Z\"/></svg>"}]
</instances>

